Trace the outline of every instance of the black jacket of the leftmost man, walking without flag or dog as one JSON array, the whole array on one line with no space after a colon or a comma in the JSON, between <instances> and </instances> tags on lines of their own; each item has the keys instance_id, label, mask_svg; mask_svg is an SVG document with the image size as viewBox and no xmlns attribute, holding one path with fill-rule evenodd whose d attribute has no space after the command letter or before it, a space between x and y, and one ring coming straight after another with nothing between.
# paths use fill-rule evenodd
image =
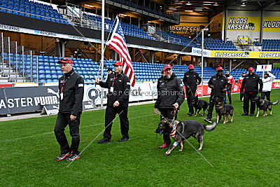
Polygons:
<instances>
[{"instance_id":1,"label":"black jacket of the leftmost man, walking without flag or dog","mask_svg":"<svg viewBox=\"0 0 280 187\"><path fill-rule=\"evenodd\" d=\"M77 116L83 111L83 86L83 78L73 69L59 78L59 113Z\"/></svg>"}]
</instances>

